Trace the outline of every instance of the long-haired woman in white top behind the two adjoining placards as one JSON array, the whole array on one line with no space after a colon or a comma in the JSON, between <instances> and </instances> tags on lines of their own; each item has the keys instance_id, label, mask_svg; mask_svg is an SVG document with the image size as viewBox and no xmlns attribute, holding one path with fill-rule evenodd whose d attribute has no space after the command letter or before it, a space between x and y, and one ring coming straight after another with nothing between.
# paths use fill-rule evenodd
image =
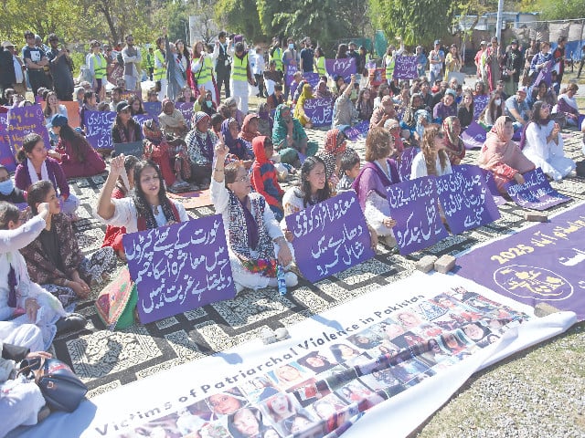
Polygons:
<instances>
[{"instance_id":1,"label":"long-haired woman in white top behind the two adjoining placards","mask_svg":"<svg viewBox=\"0 0 585 438\"><path fill-rule=\"evenodd\" d=\"M431 123L422 134L420 152L412 160L410 179L452 173L451 162L445 151L446 148L445 134L441 130L441 126Z\"/></svg>"}]
</instances>

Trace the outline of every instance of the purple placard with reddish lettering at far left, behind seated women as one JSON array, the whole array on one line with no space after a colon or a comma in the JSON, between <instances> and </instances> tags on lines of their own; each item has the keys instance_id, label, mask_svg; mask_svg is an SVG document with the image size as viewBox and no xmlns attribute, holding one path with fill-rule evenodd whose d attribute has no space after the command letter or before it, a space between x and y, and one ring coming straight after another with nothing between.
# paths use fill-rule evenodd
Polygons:
<instances>
[{"instance_id":1,"label":"purple placard with reddish lettering at far left, behind seated women","mask_svg":"<svg viewBox=\"0 0 585 438\"><path fill-rule=\"evenodd\" d=\"M22 148L22 141L27 134L35 132L43 138L45 146L50 149L48 130L45 126L45 116L41 106L29 105L8 110L8 141L14 151Z\"/></svg>"}]
</instances>

